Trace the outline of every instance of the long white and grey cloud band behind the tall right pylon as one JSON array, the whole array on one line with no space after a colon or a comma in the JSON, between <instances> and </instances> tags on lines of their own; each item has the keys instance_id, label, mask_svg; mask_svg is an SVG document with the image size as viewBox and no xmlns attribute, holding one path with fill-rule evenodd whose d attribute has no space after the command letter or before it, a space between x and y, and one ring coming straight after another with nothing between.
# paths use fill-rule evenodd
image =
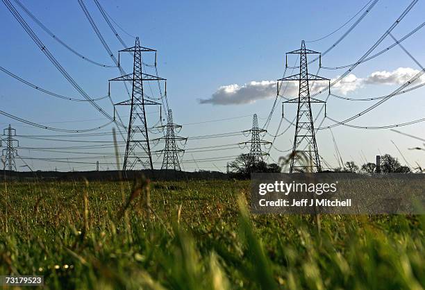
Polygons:
<instances>
[{"instance_id":1,"label":"long white and grey cloud band behind the tall right pylon","mask_svg":"<svg viewBox=\"0 0 425 290\"><path fill-rule=\"evenodd\" d=\"M419 70L409 67L399 67L394 71L374 71L366 78L358 78L355 74L349 74L339 83L333 85L332 89L340 94L348 94L354 92L356 89L364 87L365 85L401 85L406 83L410 78L415 76ZM338 76L336 77L338 78ZM336 78L333 78L335 80ZM332 80L331 80L332 82ZM420 78L417 82L425 82L425 76ZM261 99L270 99L276 96L276 80L262 80L252 81L244 85L224 85L217 89L209 99L200 99L199 103L210 103L213 105L240 105L247 103L255 103ZM290 98L298 96L298 82L287 82L288 87L283 93L283 88L287 85L283 83L281 95ZM324 89L328 84L326 82L318 81L310 86L310 92L319 91ZM331 89L331 90L332 90Z\"/></svg>"}]
</instances>

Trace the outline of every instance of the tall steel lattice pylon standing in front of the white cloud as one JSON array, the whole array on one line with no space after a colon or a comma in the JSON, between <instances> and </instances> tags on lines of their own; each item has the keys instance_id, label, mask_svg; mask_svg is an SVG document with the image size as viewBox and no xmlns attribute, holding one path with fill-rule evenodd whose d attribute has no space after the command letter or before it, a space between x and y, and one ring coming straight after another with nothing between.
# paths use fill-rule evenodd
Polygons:
<instances>
[{"instance_id":1,"label":"tall steel lattice pylon standing in front of the white cloud","mask_svg":"<svg viewBox=\"0 0 425 290\"><path fill-rule=\"evenodd\" d=\"M314 98L310 98L309 80L327 80L329 82L329 90L331 89L330 80L308 74L308 54L319 54L319 66L321 65L321 55L317 51L306 49L304 40L301 42L301 49L290 51L286 53L286 66L288 67L288 54L299 54L299 74L287 76L278 80L298 80L299 81L299 94L298 98L290 99L283 103L298 103L297 110L297 123L295 124L294 146L292 147L292 158L290 173L294 171L322 171L320 166L319 152L317 151L317 143L315 136L315 126L313 123L313 114L311 112L311 103L325 103ZM326 116L326 107L325 107ZM303 158L308 158L303 160Z\"/></svg>"}]
</instances>

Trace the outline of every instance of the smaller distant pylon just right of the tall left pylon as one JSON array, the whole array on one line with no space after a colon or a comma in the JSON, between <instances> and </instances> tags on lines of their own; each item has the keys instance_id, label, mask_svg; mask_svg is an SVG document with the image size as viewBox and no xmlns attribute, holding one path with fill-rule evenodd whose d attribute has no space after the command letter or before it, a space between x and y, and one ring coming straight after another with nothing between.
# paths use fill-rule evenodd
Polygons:
<instances>
[{"instance_id":1,"label":"smaller distant pylon just right of the tall left pylon","mask_svg":"<svg viewBox=\"0 0 425 290\"><path fill-rule=\"evenodd\" d=\"M157 153L164 153L161 169L174 169L181 171L180 163L178 162L178 153L183 153L185 150L178 148L176 140L186 141L188 138L176 136L175 130L181 129L181 125L174 123L172 110L168 110L167 124L159 126L158 128L167 129L165 137L154 139L165 139L165 148L163 150L156 151Z\"/></svg>"}]
</instances>

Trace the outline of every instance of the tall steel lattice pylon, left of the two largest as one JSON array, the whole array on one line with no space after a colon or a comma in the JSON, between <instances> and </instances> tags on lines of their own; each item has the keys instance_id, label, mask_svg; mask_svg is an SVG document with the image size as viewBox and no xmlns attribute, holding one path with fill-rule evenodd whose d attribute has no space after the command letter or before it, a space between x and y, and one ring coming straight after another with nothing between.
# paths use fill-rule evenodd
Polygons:
<instances>
[{"instance_id":1,"label":"tall steel lattice pylon, left of the two largest","mask_svg":"<svg viewBox=\"0 0 425 290\"><path fill-rule=\"evenodd\" d=\"M118 52L131 53L133 55L133 73L126 74L113 78L113 80L124 80L133 83L131 92L131 99L122 101L115 105L129 105L130 106L130 119L128 121L128 133L126 142L126 153L124 155L124 163L122 166L123 171L131 170L135 167L136 163L140 163L144 169L153 169L153 162L151 156L151 145L149 143L148 123L146 119L146 105L160 105L160 103L151 100L150 96L144 94L143 82L144 81L160 81L166 80L158 76L144 74L142 72L142 52L154 52L155 49L148 49L147 47L140 46L139 37L136 37L135 45L128 49L122 49ZM156 57L155 57L156 58ZM141 149L142 152L136 152L136 149Z\"/></svg>"}]
</instances>

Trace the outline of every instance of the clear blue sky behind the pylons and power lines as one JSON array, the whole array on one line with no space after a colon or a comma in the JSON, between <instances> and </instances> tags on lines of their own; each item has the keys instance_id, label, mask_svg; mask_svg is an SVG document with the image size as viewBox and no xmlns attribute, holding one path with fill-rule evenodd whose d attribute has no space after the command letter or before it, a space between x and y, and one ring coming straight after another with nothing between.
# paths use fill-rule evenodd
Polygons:
<instances>
[{"instance_id":1,"label":"clear blue sky behind the pylons and power lines","mask_svg":"<svg viewBox=\"0 0 425 290\"><path fill-rule=\"evenodd\" d=\"M122 49L121 44L101 17L94 1L85 0L84 2L113 52L116 53ZM12 3L15 5L14 1ZM85 19L78 1L22 0L22 3L73 49L97 62L113 64L92 31L88 20ZM308 1L308 3L307 1L301 3L294 1L102 1L101 3L119 26L122 26L131 35L140 37L142 45L158 49L158 70L160 76L167 78L168 99L173 109L174 119L176 123L183 124L179 135L193 137L249 129L252 123L251 116L254 113L258 114L260 126L263 126L265 118L272 108L274 96L265 96L253 103L237 105L201 104L199 99L211 98L221 86L244 86L252 81L271 81L281 78L285 68L285 52L299 49L301 40L315 40L331 33L355 15L367 1ZM365 19L335 49L324 56L323 65L333 67L356 62L399 17L409 3L410 1L378 1ZM419 1L392 34L395 37L402 37L421 24L424 21L424 9L425 4ZM103 96L107 93L108 79L119 76L118 69L97 67L77 58L44 33L24 12L22 15L53 53L53 56L81 87L93 97ZM0 22L3 27L0 33L0 42L3 44L0 46L0 53L3 56L0 63L2 67L45 89L81 98L35 46L3 3L0 6ZM308 48L315 51L328 49L352 23L331 37L319 42L307 43ZM127 44L133 45L133 37L126 35L119 28L117 31ZM422 28L403 42L403 46L422 64L425 63L424 36L425 29ZM387 37L375 51L384 49L393 42L390 37ZM290 58L290 62L295 60ZM148 62L149 59L146 61ZM131 70L131 59L123 58L122 64L126 70ZM376 71L386 71L392 76L391 73L401 67L419 69L415 62L396 46L387 53L356 67L352 74L363 83L358 85L355 90L347 92L346 96L381 96L392 92L397 87L397 83L373 83L368 79L371 79L370 76ZM315 74L317 64L312 64L309 69ZM327 78L335 78L343 72L343 69L338 71L322 69L319 74ZM51 98L31 87L26 87L1 72L0 87L1 110L30 121L56 128L72 129L92 128L107 121L88 103ZM335 89L335 93L342 94L338 89ZM113 84L111 94L114 101L125 99L122 84ZM395 96L352 123L360 126L384 126L423 118L425 101L422 96L423 88ZM326 98L326 94L319 96L319 99L324 98ZM373 102L329 99L327 111L329 116L342 120L372 104ZM113 110L108 100L99 101L99 105L112 114ZM287 105L285 107L285 115L288 119L294 117L295 110L295 106ZM313 109L313 113L315 111L317 112L316 109ZM128 116L128 112L125 111L120 111L120 114L124 118ZM151 112L148 117L151 118L149 119L151 124L156 123L159 118L156 112ZM199 123L233 117L238 118ZM268 128L272 135L276 133L280 118L281 105L278 105ZM319 117L319 120L322 120L322 117ZM18 135L60 135L60 133L33 128L7 117L0 117L1 126L6 128L8 123L12 123L12 126L17 129ZM331 123L331 121L326 121L324 124ZM281 129L287 127L288 123L283 121ZM111 128L112 126L109 126L100 131L109 132ZM424 138L424 128L424 123L417 123L398 128L398 130ZM380 153L390 153L397 156L402 163L406 163L392 144L391 141L393 141L399 146L410 164L419 162L422 167L425 165L423 151L408 150L414 146L421 146L421 142L391 130L360 130L338 126L333 128L333 134L344 161L354 160L361 164L365 159L372 162L374 156ZM293 135L294 128L290 128L285 134L276 138L274 146L281 150L290 148ZM87 141L110 141L111 139L110 136L73 138ZM272 139L267 135L264 138ZM19 136L17 139L22 147L83 145L83 143L76 144L78 142L52 142L20 138ZM235 144L245 141L245 139L247 137L243 135L219 139L191 140L189 138L185 147L199 148ZM328 130L319 131L317 144L325 160L332 166L337 166L333 140ZM158 146L157 150L160 150L160 144ZM186 153L183 160L190 162L190 160L208 157L232 156L248 150L248 148L243 150L233 148L223 151ZM88 150L81 151L87 152ZM90 152L107 155L113 153L113 149L98 149ZM274 148L270 153L274 160L283 154L275 151ZM19 150L19 154L24 157L42 158L88 156L30 151L24 148ZM160 162L161 157L154 157L155 160L157 158ZM96 162L97 160L101 163L111 162L111 160L102 161L99 158L87 159L84 162ZM31 159L26 162L34 169L57 167L60 170L72 168L90 170L95 168L94 164L67 164ZM22 161L17 160L17 165L21 166ZM187 170L197 168L225 170L225 165L226 161L217 161L185 163L183 166ZM160 167L160 164L156 164L156 166ZM107 167L111 168L113 165L101 164L102 169ZM27 169L20 168L20 170Z\"/></svg>"}]
</instances>

